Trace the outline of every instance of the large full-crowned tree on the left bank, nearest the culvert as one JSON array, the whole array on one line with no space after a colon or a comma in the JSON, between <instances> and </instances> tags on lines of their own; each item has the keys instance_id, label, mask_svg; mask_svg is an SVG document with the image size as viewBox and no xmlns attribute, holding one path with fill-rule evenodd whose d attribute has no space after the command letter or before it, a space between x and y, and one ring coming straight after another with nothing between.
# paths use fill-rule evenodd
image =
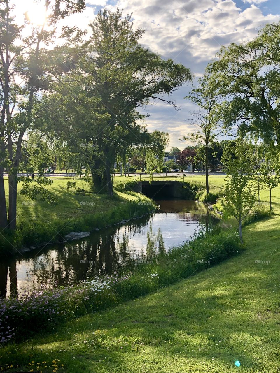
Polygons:
<instances>
[{"instance_id":1,"label":"large full-crowned tree on the left bank, nearest the culvert","mask_svg":"<svg viewBox=\"0 0 280 373\"><path fill-rule=\"evenodd\" d=\"M91 29L92 37L88 43L91 56L85 68L87 84L93 87L90 93L100 100L99 113L109 115L99 128L97 142L103 153L95 160L97 168L105 168L105 177L104 174L101 179L95 177L94 170L93 177L95 184L107 185L109 195L112 195L110 170L119 142L128 135L127 132L134 134L134 143L140 140L137 139L140 131L135 128L140 117L137 107L150 100L174 105L164 95L171 95L184 85L191 74L183 65L163 60L140 46L139 39L144 31L134 31L131 16L123 18L119 10L100 11Z\"/></svg>"}]
</instances>

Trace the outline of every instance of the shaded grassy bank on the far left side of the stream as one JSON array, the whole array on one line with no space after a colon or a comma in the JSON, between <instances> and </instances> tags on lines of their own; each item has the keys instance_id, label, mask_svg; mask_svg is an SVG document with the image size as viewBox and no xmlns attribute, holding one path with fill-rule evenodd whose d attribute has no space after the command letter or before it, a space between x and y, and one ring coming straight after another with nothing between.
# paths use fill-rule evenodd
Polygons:
<instances>
[{"instance_id":1,"label":"shaded grassy bank on the far left side of the stream","mask_svg":"<svg viewBox=\"0 0 280 373\"><path fill-rule=\"evenodd\" d=\"M128 195L116 192L114 198L106 194L93 194L87 191L87 184L77 180L77 188L87 192L75 194L66 189L68 178L54 178L49 189L59 197L57 206L50 206L38 198L28 201L18 195L18 224L15 232L5 231L0 235L2 255L10 255L22 246L38 246L41 242L63 241L65 234L74 231L91 231L105 228L106 225L130 219L134 215L147 213L153 206L139 206L138 198L150 203L149 198L134 193ZM6 181L7 182L7 181ZM20 190L20 189L19 189ZM6 188L7 191L7 188ZM143 201L144 201L143 200ZM30 204L31 203L31 204Z\"/></svg>"}]
</instances>

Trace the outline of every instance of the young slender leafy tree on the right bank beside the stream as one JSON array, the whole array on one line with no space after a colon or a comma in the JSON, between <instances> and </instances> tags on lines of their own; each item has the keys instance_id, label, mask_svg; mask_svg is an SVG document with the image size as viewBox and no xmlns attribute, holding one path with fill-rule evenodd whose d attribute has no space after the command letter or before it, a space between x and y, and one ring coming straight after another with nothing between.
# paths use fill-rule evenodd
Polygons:
<instances>
[{"instance_id":1,"label":"young slender leafy tree on the right bank beside the stream","mask_svg":"<svg viewBox=\"0 0 280 373\"><path fill-rule=\"evenodd\" d=\"M221 205L225 215L233 216L237 220L240 241L243 244L242 222L256 200L256 186L251 182L256 164L252 144L239 138L235 147L227 145L222 162L227 177L224 188L225 197L221 198Z\"/></svg>"}]
</instances>

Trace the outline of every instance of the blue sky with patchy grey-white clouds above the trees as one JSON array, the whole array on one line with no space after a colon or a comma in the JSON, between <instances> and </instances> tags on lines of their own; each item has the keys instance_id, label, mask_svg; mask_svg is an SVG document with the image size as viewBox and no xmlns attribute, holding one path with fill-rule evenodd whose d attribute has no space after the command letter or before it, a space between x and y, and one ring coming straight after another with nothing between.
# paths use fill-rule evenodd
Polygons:
<instances>
[{"instance_id":1,"label":"blue sky with patchy grey-white clouds above the trees","mask_svg":"<svg viewBox=\"0 0 280 373\"><path fill-rule=\"evenodd\" d=\"M15 0L18 12L28 3L32 0ZM190 68L195 79L203 75L221 45L251 40L266 23L280 21L279 0L87 0L86 5L83 13L68 19L69 25L84 29L103 7L133 13L134 27L145 29L141 44ZM190 123L195 106L184 99L190 88L186 84L172 95L178 111L162 101L143 110L149 114L149 131L169 133L169 148L186 147L178 138L195 130Z\"/></svg>"}]
</instances>

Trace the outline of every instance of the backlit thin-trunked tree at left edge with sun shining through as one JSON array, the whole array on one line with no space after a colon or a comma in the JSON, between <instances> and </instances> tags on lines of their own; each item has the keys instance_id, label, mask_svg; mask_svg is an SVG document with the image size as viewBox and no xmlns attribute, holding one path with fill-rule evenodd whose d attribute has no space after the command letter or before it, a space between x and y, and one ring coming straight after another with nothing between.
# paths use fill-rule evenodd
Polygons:
<instances>
[{"instance_id":1,"label":"backlit thin-trunked tree at left edge with sun shining through","mask_svg":"<svg viewBox=\"0 0 280 373\"><path fill-rule=\"evenodd\" d=\"M32 129L34 102L48 89L52 80L53 50L46 46L57 37L72 43L77 28L56 31L57 23L70 14L80 12L84 0L46 0L46 20L32 25L26 14L24 25L17 25L10 0L0 2L0 226L15 229L18 191L18 167L22 141ZM44 12L44 11L43 11ZM47 26L47 27L46 27ZM65 38L66 37L66 38ZM78 37L77 37L78 38ZM75 39L75 38L74 38ZM42 48L41 45L45 47ZM57 62L58 64L58 62ZM18 84L17 82L21 82ZM9 210L7 217L4 190L4 167L9 170ZM44 191L45 192L45 191Z\"/></svg>"}]
</instances>

